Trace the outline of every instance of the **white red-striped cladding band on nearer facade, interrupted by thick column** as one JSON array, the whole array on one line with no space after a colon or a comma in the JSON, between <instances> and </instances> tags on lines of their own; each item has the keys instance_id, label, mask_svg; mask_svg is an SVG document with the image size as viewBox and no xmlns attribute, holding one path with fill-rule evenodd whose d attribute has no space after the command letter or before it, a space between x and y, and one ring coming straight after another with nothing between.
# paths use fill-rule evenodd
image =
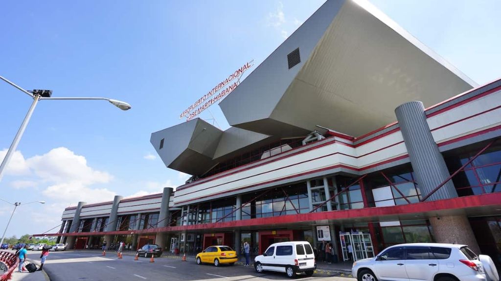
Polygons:
<instances>
[{"instance_id":1,"label":"white red-striped cladding band on nearer facade, interrupted by thick column","mask_svg":"<svg viewBox=\"0 0 501 281\"><path fill-rule=\"evenodd\" d=\"M440 143L499 125L501 123L501 109L495 109L471 118L468 117L499 106L500 104L501 91L497 91L431 116L427 122L430 129L434 129L464 119L433 130L434 140ZM366 166L405 154L407 154L407 149L400 131L390 133L356 148L340 143L332 143L177 190L174 202L176 205L182 205L185 204L183 201L199 200L199 197L204 197L203 200L210 200L224 196L224 193L217 193L251 185L260 185L284 177L293 177L300 173L336 164L362 169L363 173L363 168ZM290 181L293 180L293 178L290 179Z\"/></svg>"}]
</instances>

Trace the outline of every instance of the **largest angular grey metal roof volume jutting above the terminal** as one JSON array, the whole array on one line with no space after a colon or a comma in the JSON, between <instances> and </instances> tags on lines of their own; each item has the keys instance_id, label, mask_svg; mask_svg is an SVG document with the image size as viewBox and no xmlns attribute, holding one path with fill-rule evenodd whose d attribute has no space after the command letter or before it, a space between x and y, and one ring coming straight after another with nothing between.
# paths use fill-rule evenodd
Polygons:
<instances>
[{"instance_id":1,"label":"largest angular grey metal roof volume jutting above the terminal","mask_svg":"<svg viewBox=\"0 0 501 281\"><path fill-rule=\"evenodd\" d=\"M297 48L301 62L289 68ZM264 134L321 125L358 136L395 121L406 101L429 106L472 85L367 2L329 0L220 106L230 125Z\"/></svg>"}]
</instances>

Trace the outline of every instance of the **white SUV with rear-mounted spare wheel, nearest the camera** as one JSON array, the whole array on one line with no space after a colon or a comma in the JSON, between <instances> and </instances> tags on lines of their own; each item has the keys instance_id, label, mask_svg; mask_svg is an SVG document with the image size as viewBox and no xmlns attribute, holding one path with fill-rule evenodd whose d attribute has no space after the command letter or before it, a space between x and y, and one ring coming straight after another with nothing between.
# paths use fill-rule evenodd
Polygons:
<instances>
[{"instance_id":1,"label":"white SUV with rear-mounted spare wheel, nearest the camera","mask_svg":"<svg viewBox=\"0 0 501 281\"><path fill-rule=\"evenodd\" d=\"M358 281L483 281L486 280L486 267L489 274L496 272L492 262L484 266L467 245L408 243L390 246L375 257L355 261L352 274ZM495 276L490 279L495 280Z\"/></svg>"}]
</instances>

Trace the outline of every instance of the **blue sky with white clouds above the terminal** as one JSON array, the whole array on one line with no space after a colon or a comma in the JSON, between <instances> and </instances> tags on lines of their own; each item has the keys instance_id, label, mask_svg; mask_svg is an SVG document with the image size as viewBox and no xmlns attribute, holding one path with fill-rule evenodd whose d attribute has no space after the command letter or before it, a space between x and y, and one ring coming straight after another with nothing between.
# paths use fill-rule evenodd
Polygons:
<instances>
[{"instance_id":1,"label":"blue sky with white clouds above the terminal","mask_svg":"<svg viewBox=\"0 0 501 281\"><path fill-rule=\"evenodd\" d=\"M41 101L18 146L0 197L20 206L7 235L41 233L65 206L159 192L187 175L168 169L151 132L244 62L259 65L324 0L9 1L0 10L0 75L53 96ZM501 2L372 0L376 7L479 84L501 77ZM0 82L0 159L31 99ZM227 122L217 105L202 113ZM12 207L0 202L0 228ZM51 231L52 232L52 231Z\"/></svg>"}]
</instances>

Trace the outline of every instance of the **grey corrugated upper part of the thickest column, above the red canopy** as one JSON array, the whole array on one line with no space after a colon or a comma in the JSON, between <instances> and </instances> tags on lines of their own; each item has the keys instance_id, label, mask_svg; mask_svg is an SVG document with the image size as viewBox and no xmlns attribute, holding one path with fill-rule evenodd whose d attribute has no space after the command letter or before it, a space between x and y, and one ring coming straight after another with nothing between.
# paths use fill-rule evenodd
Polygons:
<instances>
[{"instance_id":1,"label":"grey corrugated upper part of the thickest column, above the red canopy","mask_svg":"<svg viewBox=\"0 0 501 281\"><path fill-rule=\"evenodd\" d=\"M449 170L433 139L421 101L406 102L395 109L400 131L421 195L426 196L449 177ZM457 197L451 180L428 197L427 201Z\"/></svg>"}]
</instances>

